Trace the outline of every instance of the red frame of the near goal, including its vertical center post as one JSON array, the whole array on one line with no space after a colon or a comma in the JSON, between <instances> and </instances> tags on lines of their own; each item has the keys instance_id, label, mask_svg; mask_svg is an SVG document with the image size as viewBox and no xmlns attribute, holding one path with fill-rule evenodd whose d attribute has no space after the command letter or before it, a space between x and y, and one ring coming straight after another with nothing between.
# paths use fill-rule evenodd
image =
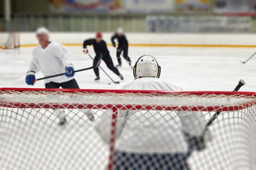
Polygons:
<instances>
[{"instance_id":1,"label":"red frame of the near goal, including its vertical center post","mask_svg":"<svg viewBox=\"0 0 256 170\"><path fill-rule=\"evenodd\" d=\"M75 92L93 92L93 93L106 93L106 92L113 92L116 94L126 94L126 93L133 93L133 94L188 94L188 95L204 95L203 97L207 97L209 95L215 94L215 95L243 95L244 97L249 96L256 96L255 92L233 92L233 91L158 91L158 90L105 90L105 89L55 89L55 88L0 88L0 91L37 91L40 93L40 91L61 91L61 92L68 92L68 93L75 93ZM210 96L209 96L210 97ZM256 99L252 101L253 104L256 104ZM223 112L223 111L234 111L234 110L240 110L245 107L249 107L249 103L247 104L241 104L236 106L168 106L168 105L145 105L145 104L136 104L136 105L130 105L127 104L93 104L93 103L84 103L84 104L58 104L58 103L18 103L18 102L5 102L1 101L1 92L0 92L0 106L2 107L19 107L19 108L88 108L88 109L112 109L112 122L111 122L111 137L110 137L110 155L109 155L109 163L108 163L108 169L112 170L114 165L114 151L115 151L115 132L116 132L116 123L117 123L117 111L118 109L140 109L140 110L166 110L166 111L214 111L214 112Z\"/></svg>"}]
</instances>

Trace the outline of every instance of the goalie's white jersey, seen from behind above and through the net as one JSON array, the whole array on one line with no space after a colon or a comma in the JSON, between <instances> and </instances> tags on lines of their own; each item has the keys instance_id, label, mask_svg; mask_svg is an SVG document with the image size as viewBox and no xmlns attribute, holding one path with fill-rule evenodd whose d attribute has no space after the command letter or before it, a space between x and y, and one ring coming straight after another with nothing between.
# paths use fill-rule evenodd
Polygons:
<instances>
[{"instance_id":1,"label":"goalie's white jersey, seen from behind above and through the net","mask_svg":"<svg viewBox=\"0 0 256 170\"><path fill-rule=\"evenodd\" d=\"M120 84L118 89L182 90L181 87L153 77ZM101 137L107 143L110 139L111 115L112 112L106 112L98 126ZM186 153L188 146L182 131L200 136L204 125L201 112L118 111L115 149L137 153Z\"/></svg>"}]
</instances>

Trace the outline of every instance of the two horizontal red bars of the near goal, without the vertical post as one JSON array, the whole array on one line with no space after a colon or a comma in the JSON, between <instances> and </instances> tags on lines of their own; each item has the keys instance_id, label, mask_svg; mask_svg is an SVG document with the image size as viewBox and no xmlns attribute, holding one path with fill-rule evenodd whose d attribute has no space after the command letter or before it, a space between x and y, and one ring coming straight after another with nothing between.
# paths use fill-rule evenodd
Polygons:
<instances>
[{"instance_id":1,"label":"two horizontal red bars of the near goal, without the vertical post","mask_svg":"<svg viewBox=\"0 0 256 170\"><path fill-rule=\"evenodd\" d=\"M151 93L157 93L161 95L166 95L166 94L188 94L188 95L245 95L245 96L256 96L256 92L235 92L235 91L165 91L165 90L115 90L115 89L56 89L56 88L0 88L0 91L18 91L18 92L23 92L23 91L62 91L62 92L69 92L69 93L75 93L75 92L93 92L93 93L105 93L105 92L113 92L116 94L126 94L126 93L142 93L142 94L151 94ZM123 105L120 104L73 104L69 105L68 103L64 104L57 104L57 103L51 103L51 104L45 104L45 103L13 103L13 102L3 102L0 100L0 105L4 107L8 107L9 105L17 106L20 108L26 108L26 107L34 107L34 108L84 108L85 106L88 109L109 109L112 108L113 106L116 107L117 109L126 109L123 108ZM242 106L247 107L247 105L241 105L241 107L238 106L229 106L229 107L222 107L222 106L209 106L205 108L205 106L182 106L180 109L177 106L167 106L167 105L161 105L161 106L156 106L156 105L126 105L128 109L155 109L155 110L162 110L163 108L165 110L174 110L178 109L180 111L186 111L187 109L190 109L190 111L230 111L230 110L239 110L242 109ZM133 108L131 108L133 107ZM134 108L135 107L135 108Z\"/></svg>"}]
</instances>

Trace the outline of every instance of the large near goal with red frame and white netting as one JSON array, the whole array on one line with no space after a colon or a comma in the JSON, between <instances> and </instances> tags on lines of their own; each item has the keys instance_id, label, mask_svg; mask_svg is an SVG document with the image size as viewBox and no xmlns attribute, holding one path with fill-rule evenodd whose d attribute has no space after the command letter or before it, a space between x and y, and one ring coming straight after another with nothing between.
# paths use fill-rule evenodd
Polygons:
<instances>
[{"instance_id":1,"label":"large near goal with red frame and white netting","mask_svg":"<svg viewBox=\"0 0 256 170\"><path fill-rule=\"evenodd\" d=\"M3 169L255 169L255 95L1 88L0 165ZM62 126L57 111L66 115ZM216 112L220 114L204 135L206 147L191 150L184 132L200 136Z\"/></svg>"}]
</instances>

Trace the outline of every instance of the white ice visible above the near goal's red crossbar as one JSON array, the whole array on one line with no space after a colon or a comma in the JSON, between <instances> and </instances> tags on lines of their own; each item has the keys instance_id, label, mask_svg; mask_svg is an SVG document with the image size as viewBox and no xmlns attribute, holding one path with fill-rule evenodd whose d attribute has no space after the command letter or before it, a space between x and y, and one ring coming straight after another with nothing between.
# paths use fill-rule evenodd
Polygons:
<instances>
[{"instance_id":1,"label":"white ice visible above the near goal's red crossbar","mask_svg":"<svg viewBox=\"0 0 256 170\"><path fill-rule=\"evenodd\" d=\"M32 58L32 48L0 50L0 87L44 88L43 80L36 82L34 86L28 86L25 83L26 72ZM72 55L75 69L92 66L93 61L82 52L82 47L69 46L67 48ZM116 50L111 46L108 49L116 65ZM94 57L92 46L88 50ZM239 62L247 60L254 52L254 48L129 47L128 55L131 57L132 65L144 53L155 56L161 66L160 78L179 85L184 90L230 91L240 79L243 79L246 84L241 91L256 91L256 57L246 64ZM120 81L104 62L101 63L101 67L115 81L120 81L120 83L132 81L132 69L123 57L122 61L122 68L118 69L123 74L124 81ZM37 79L42 77L42 73L36 74ZM83 89L116 89L118 86L111 82L101 70L100 82L94 81L93 70L76 73L75 78L80 88Z\"/></svg>"}]
</instances>

